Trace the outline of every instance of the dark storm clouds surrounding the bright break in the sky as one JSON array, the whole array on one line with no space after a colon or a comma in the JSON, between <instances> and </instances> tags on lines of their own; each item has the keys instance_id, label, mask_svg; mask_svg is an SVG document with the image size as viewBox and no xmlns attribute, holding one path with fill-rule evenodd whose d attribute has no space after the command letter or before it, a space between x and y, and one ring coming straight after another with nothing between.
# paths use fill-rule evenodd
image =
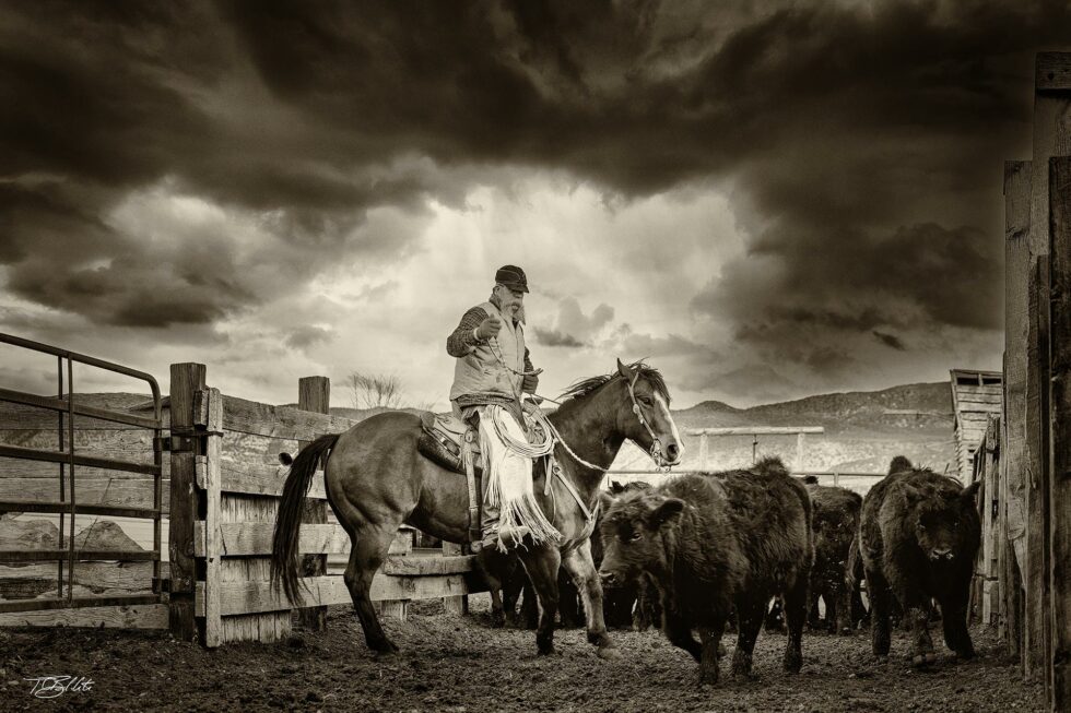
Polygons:
<instances>
[{"instance_id":1,"label":"dark storm clouds surrounding the bright break in the sky","mask_svg":"<svg viewBox=\"0 0 1071 713\"><path fill-rule=\"evenodd\" d=\"M22 237L0 262L21 296L95 321L211 322L262 295L249 258L226 236L191 260L143 247L105 221L130 191L266 212L286 245L258 259L296 264L296 286L414 237L355 238L369 209L456 197L404 157L626 198L728 177L753 242L694 307L833 368L839 333L996 324L999 236L970 226L1028 150L1032 51L1068 26L1063 2L9 4L0 219Z\"/></svg>"}]
</instances>

